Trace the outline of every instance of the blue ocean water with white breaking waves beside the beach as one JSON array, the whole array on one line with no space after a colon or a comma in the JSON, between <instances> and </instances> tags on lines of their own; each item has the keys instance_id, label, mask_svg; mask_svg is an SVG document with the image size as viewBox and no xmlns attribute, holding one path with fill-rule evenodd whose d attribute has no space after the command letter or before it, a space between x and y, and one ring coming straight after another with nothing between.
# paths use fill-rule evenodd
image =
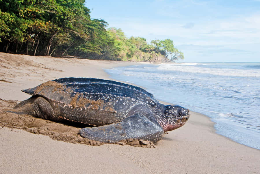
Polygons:
<instances>
[{"instance_id":1,"label":"blue ocean water with white breaking waves beside the beach","mask_svg":"<svg viewBox=\"0 0 260 174\"><path fill-rule=\"evenodd\" d=\"M209 116L217 133L260 149L260 63L142 64L105 71L159 100Z\"/></svg>"}]
</instances>

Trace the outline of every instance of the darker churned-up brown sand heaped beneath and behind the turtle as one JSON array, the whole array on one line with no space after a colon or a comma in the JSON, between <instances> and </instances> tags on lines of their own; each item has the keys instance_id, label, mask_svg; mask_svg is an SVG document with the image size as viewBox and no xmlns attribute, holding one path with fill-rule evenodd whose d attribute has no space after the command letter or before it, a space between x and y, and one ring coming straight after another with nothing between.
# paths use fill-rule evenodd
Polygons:
<instances>
[{"instance_id":1,"label":"darker churned-up brown sand heaped beneath and behind the turtle","mask_svg":"<svg viewBox=\"0 0 260 174\"><path fill-rule=\"evenodd\" d=\"M17 103L19 103L19 101L2 100L0 98L0 126L15 129L23 129L31 133L48 135L51 139L58 141L87 144L92 146L99 146L104 144L103 142L89 140L87 138L81 137L79 135L79 129L82 128L82 125L81 127L77 127L77 123L75 123L76 126L72 126L73 123L71 123L71 125L67 125L51 120L36 118L26 114L11 113L10 111L12 111L13 107ZM122 140L117 144L127 144L131 146L141 146L148 148L155 147L153 142L140 139Z\"/></svg>"}]
</instances>

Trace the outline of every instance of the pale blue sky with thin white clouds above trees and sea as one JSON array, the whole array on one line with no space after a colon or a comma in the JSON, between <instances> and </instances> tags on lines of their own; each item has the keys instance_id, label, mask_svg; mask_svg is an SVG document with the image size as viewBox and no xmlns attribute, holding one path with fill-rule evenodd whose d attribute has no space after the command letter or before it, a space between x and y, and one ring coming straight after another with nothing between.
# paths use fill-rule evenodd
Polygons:
<instances>
[{"instance_id":1,"label":"pale blue sky with thin white clouds above trees and sea","mask_svg":"<svg viewBox=\"0 0 260 174\"><path fill-rule=\"evenodd\" d=\"M260 0L88 1L127 37L172 39L183 62L260 62Z\"/></svg>"}]
</instances>

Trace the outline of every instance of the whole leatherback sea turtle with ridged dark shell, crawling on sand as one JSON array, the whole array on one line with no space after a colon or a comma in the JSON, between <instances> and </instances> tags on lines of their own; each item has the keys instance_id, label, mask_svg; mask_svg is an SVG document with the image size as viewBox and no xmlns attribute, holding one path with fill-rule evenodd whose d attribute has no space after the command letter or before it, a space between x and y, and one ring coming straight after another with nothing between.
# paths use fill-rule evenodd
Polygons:
<instances>
[{"instance_id":1,"label":"whole leatherback sea turtle with ridged dark shell, crawling on sand","mask_svg":"<svg viewBox=\"0 0 260 174\"><path fill-rule=\"evenodd\" d=\"M94 125L82 137L101 142L143 139L157 142L190 117L188 109L163 105L140 87L96 78L60 78L22 90L31 98L14 109L48 120Z\"/></svg>"}]
</instances>

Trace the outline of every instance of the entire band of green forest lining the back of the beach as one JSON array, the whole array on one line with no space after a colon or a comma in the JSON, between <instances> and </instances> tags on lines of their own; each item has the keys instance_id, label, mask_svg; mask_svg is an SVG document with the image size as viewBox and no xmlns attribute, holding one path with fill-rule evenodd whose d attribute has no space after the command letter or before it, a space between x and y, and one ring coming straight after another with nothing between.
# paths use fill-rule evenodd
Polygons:
<instances>
[{"instance_id":1,"label":"entire band of green forest lining the back of the beach","mask_svg":"<svg viewBox=\"0 0 260 174\"><path fill-rule=\"evenodd\" d=\"M0 51L103 60L183 59L171 39L127 38L92 19L85 0L0 0Z\"/></svg>"}]
</instances>

